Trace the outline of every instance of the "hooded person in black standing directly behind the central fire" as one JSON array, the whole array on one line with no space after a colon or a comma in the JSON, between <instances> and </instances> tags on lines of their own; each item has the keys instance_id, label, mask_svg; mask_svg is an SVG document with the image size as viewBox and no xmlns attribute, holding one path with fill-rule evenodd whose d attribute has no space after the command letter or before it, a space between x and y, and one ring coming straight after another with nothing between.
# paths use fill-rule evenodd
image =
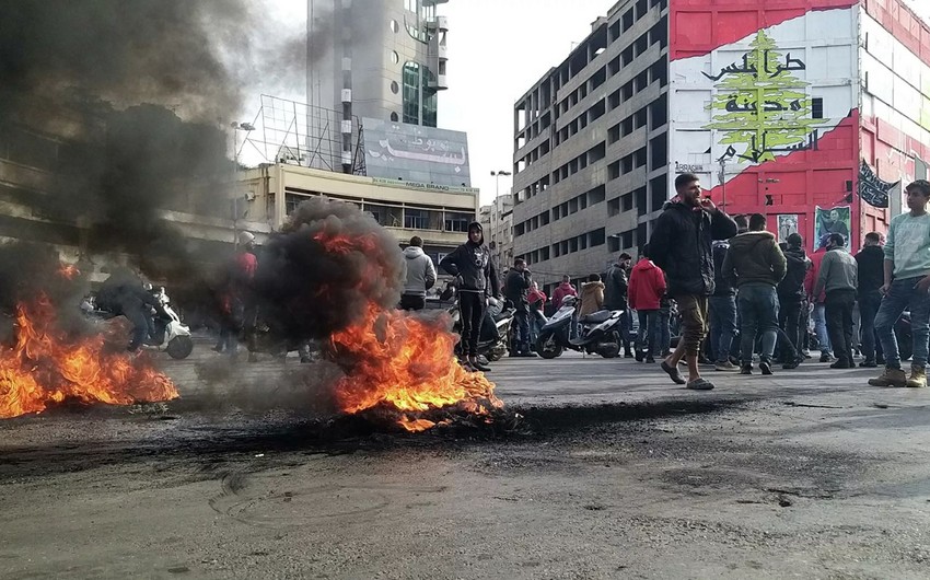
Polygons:
<instances>
[{"instance_id":1,"label":"hooded person in black standing directly behind the central fire","mask_svg":"<svg viewBox=\"0 0 930 580\"><path fill-rule=\"evenodd\" d=\"M485 245L481 224L477 221L469 223L468 241L442 258L439 266L456 277L462 315L462 352L467 357L467 366L487 372L490 368L478 360L478 337L488 303L488 280L493 295L500 294L500 283L491 253Z\"/></svg>"}]
</instances>

